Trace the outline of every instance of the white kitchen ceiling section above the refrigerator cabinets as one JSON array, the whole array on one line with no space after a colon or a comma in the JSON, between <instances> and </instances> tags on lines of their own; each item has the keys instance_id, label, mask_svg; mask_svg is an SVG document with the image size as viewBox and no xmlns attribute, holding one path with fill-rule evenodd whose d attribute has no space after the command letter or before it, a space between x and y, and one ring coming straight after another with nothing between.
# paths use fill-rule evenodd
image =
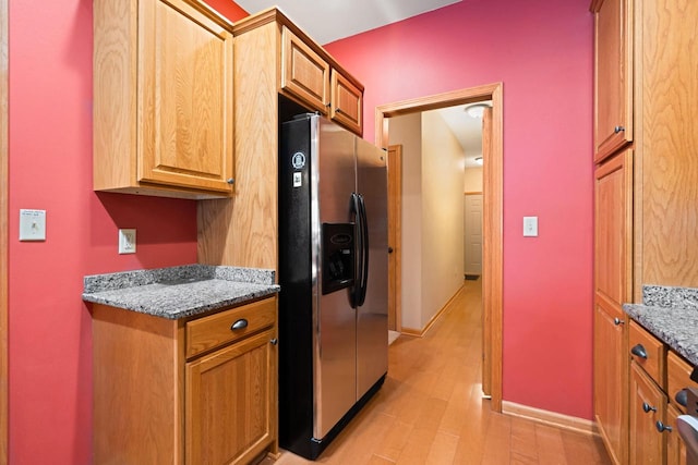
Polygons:
<instances>
[{"instance_id":1,"label":"white kitchen ceiling section above the refrigerator cabinets","mask_svg":"<svg viewBox=\"0 0 698 465\"><path fill-rule=\"evenodd\" d=\"M236 3L251 14L277 5L316 42L324 45L458 1L460 0L236 0Z\"/></svg>"}]
</instances>

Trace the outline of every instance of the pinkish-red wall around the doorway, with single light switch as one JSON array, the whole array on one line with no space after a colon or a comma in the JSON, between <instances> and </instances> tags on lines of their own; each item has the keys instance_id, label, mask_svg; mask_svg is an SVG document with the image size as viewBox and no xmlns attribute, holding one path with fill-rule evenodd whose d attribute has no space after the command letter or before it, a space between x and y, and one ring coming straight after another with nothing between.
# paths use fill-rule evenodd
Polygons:
<instances>
[{"instance_id":1,"label":"pinkish-red wall around the doorway, with single light switch","mask_svg":"<svg viewBox=\"0 0 698 465\"><path fill-rule=\"evenodd\" d=\"M326 47L369 140L378 105L504 83L504 399L588 419L592 26L589 0L464 0Z\"/></svg>"}]
</instances>

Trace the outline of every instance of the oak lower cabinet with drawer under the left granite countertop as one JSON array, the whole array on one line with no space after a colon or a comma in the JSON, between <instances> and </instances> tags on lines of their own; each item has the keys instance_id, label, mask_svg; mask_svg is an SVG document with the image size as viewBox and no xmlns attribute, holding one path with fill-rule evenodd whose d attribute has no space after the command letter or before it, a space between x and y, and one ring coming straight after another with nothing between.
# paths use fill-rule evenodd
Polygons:
<instances>
[{"instance_id":1,"label":"oak lower cabinet with drawer under the left granite countertop","mask_svg":"<svg viewBox=\"0 0 698 465\"><path fill-rule=\"evenodd\" d=\"M94 304L94 463L248 464L277 454L276 305L169 320Z\"/></svg>"}]
</instances>

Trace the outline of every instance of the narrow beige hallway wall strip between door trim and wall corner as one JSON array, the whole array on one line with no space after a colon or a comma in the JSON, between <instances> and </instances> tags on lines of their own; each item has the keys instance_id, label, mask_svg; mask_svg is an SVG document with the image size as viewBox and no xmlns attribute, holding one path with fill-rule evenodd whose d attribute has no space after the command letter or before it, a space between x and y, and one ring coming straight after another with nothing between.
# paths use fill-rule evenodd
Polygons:
<instances>
[{"instance_id":1,"label":"narrow beige hallway wall strip between door trim and wall corner","mask_svg":"<svg viewBox=\"0 0 698 465\"><path fill-rule=\"evenodd\" d=\"M402 327L421 328L422 303L422 119L388 120L390 145L402 145Z\"/></svg>"}]
</instances>

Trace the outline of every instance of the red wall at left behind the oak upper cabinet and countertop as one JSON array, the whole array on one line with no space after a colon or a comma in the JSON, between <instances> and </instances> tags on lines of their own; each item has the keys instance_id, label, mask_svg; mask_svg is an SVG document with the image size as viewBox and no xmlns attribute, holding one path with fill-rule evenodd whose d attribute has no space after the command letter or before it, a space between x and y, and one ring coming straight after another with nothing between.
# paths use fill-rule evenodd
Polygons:
<instances>
[{"instance_id":1,"label":"red wall at left behind the oak upper cabinet and countertop","mask_svg":"<svg viewBox=\"0 0 698 465\"><path fill-rule=\"evenodd\" d=\"M196 261L194 201L92 191L92 0L10 2L12 464L92 462L83 277ZM46 242L14 240L21 208L47 210ZM137 229L135 255L118 228Z\"/></svg>"}]
</instances>

